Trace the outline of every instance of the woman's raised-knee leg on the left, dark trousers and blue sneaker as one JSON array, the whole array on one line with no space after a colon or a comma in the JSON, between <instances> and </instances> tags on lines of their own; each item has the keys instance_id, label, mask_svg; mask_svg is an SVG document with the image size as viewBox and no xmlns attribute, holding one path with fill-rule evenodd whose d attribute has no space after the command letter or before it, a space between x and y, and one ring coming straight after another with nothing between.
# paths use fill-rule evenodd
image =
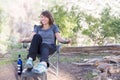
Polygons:
<instances>
[{"instance_id":1,"label":"woman's raised-knee leg on the left, dark trousers and blue sneaker","mask_svg":"<svg viewBox=\"0 0 120 80\"><path fill-rule=\"evenodd\" d=\"M38 34L35 34L33 36L33 39L29 48L29 54L27 55L27 61L25 65L27 69L33 68L33 61L36 59L36 56L39 53L41 42L42 42L41 36Z\"/></svg>"}]
</instances>

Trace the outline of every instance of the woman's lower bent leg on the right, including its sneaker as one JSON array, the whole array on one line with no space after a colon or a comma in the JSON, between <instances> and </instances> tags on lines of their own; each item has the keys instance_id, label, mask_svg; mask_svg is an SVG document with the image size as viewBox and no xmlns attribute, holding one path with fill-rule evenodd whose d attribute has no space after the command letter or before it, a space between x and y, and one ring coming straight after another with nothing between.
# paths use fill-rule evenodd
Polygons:
<instances>
[{"instance_id":1,"label":"woman's lower bent leg on the right, including its sneaker","mask_svg":"<svg viewBox=\"0 0 120 80\"><path fill-rule=\"evenodd\" d=\"M54 53L56 50L55 47L48 45L48 44L42 44L40 48L40 63L32 69L34 73L43 73L46 72L47 67L49 67L49 55L51 53Z\"/></svg>"}]
</instances>

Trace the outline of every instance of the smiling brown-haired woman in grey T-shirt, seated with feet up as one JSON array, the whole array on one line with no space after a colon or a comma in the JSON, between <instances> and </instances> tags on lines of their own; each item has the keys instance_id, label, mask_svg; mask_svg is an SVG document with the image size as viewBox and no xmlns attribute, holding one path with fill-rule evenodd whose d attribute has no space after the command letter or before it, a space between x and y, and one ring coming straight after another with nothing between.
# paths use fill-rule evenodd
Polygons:
<instances>
[{"instance_id":1,"label":"smiling brown-haired woman in grey T-shirt, seated with feet up","mask_svg":"<svg viewBox=\"0 0 120 80\"><path fill-rule=\"evenodd\" d=\"M54 19L49 11L43 11L40 18L41 25L35 25L31 36L19 41L21 43L31 42L25 66L38 74L47 71L49 67L48 57L56 51L56 39L61 43L70 43L70 40L65 40L60 36L59 28L54 24ZM33 67L33 61L37 54L40 55L40 62Z\"/></svg>"}]
</instances>

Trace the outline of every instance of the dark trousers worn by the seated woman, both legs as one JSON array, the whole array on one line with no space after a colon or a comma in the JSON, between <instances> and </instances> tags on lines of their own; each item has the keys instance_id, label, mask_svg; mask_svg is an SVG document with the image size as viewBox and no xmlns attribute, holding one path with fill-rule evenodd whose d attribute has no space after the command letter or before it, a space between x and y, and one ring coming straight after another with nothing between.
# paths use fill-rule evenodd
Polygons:
<instances>
[{"instance_id":1,"label":"dark trousers worn by the seated woman, both legs","mask_svg":"<svg viewBox=\"0 0 120 80\"><path fill-rule=\"evenodd\" d=\"M36 56L39 56L40 62L41 61L47 62L47 66L49 67L48 57L50 54L53 54L55 51L56 51L55 44L42 43L42 37L39 34L35 34L33 36L27 58L31 57L34 61L36 60Z\"/></svg>"}]
</instances>

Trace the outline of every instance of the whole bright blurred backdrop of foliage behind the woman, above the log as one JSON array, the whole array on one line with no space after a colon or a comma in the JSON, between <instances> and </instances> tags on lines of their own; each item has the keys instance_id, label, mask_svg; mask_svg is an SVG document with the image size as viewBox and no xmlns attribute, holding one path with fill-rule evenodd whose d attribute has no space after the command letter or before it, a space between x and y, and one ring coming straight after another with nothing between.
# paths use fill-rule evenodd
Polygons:
<instances>
[{"instance_id":1,"label":"whole bright blurred backdrop of foliage behind the woman, above the log","mask_svg":"<svg viewBox=\"0 0 120 80\"><path fill-rule=\"evenodd\" d=\"M111 0L110 0L111 1ZM50 10L69 46L119 44L119 2L93 0L0 0L0 54L20 49L17 41L39 24L41 11Z\"/></svg>"}]
</instances>

